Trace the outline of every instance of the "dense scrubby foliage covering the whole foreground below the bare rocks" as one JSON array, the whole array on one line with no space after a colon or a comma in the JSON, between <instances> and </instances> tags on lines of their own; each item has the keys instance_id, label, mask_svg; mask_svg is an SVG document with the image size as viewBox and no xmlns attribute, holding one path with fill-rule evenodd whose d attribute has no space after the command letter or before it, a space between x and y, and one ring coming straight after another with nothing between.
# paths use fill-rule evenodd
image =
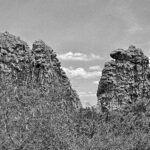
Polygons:
<instances>
[{"instance_id":1,"label":"dense scrubby foliage covering the whole foreground below the bare rocks","mask_svg":"<svg viewBox=\"0 0 150 150\"><path fill-rule=\"evenodd\" d=\"M43 95L11 83L3 78L0 85L2 150L150 149L150 112L142 102L126 111L99 113L88 107L71 112L58 93Z\"/></svg>"}]
</instances>

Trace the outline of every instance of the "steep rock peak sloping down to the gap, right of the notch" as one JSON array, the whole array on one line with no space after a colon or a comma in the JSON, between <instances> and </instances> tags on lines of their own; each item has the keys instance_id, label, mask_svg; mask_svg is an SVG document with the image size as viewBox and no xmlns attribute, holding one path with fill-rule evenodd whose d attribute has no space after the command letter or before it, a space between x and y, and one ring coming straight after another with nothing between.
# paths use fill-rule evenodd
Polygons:
<instances>
[{"instance_id":1,"label":"steep rock peak sloping down to the gap, right of the notch","mask_svg":"<svg viewBox=\"0 0 150 150\"><path fill-rule=\"evenodd\" d=\"M35 82L38 81L41 88L44 89L43 94L46 95L52 90L51 92L60 95L66 105L71 105L77 110L81 108L79 97L76 91L72 89L53 49L43 41L35 41L31 53L33 77Z\"/></svg>"}]
</instances>

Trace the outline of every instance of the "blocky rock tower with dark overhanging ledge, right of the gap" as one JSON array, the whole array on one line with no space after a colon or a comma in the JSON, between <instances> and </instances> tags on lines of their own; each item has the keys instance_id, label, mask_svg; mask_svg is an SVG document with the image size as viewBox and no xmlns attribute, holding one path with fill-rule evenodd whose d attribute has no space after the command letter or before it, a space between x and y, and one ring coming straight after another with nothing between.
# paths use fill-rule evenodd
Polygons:
<instances>
[{"instance_id":1,"label":"blocky rock tower with dark overhanging ledge, right of the gap","mask_svg":"<svg viewBox=\"0 0 150 150\"><path fill-rule=\"evenodd\" d=\"M128 50L111 52L113 60L105 63L97 97L102 111L124 109L150 98L149 59L142 50L130 46Z\"/></svg>"}]
</instances>

